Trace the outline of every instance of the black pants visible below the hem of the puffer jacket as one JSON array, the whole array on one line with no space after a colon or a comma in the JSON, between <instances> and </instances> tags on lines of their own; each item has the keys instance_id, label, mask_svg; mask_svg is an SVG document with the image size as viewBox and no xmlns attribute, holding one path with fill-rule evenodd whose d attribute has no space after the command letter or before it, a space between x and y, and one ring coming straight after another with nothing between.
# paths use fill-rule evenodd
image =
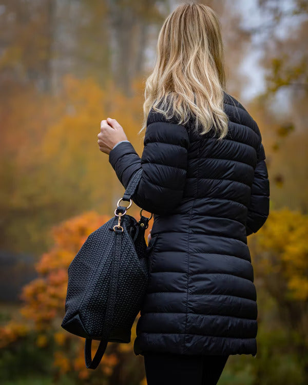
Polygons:
<instances>
[{"instance_id":1,"label":"black pants visible below the hem of the puffer jacket","mask_svg":"<svg viewBox=\"0 0 308 385\"><path fill-rule=\"evenodd\" d=\"M147 352L147 385L216 385L228 357Z\"/></svg>"}]
</instances>

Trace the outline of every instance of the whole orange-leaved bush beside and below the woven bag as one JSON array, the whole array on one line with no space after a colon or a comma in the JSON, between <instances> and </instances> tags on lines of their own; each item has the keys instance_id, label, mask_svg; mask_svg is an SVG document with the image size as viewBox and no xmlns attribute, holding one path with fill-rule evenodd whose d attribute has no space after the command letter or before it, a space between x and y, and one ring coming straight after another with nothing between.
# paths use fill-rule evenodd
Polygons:
<instances>
[{"instance_id":1,"label":"whole orange-leaved bush beside and below the woven bag","mask_svg":"<svg viewBox=\"0 0 308 385\"><path fill-rule=\"evenodd\" d=\"M54 244L35 266L39 277L23 288L23 306L19 321L12 320L0 329L1 348L9 349L13 344L21 343L28 334L34 333L37 354L40 354L41 349L50 349L54 373L78 374L79 379L89 376L112 376L115 365L123 361L125 354L132 352L134 330L129 344L108 344L99 369L92 373L85 367L84 338L74 336L61 328L65 314L69 263L88 235L107 220L109 217L106 215L88 211L52 228ZM93 345L94 353L97 343Z\"/></svg>"}]
</instances>

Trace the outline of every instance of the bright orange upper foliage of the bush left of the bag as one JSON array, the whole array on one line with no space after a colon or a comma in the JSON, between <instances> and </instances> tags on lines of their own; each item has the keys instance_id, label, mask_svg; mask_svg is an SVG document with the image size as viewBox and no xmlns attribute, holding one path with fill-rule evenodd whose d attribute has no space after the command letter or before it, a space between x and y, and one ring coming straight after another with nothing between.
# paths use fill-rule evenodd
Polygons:
<instances>
[{"instance_id":1,"label":"bright orange upper foliage of the bush left of the bag","mask_svg":"<svg viewBox=\"0 0 308 385\"><path fill-rule=\"evenodd\" d=\"M24 286L21 313L34 322L36 330L51 327L53 319L64 316L67 268L86 238L107 221L94 211L74 217L51 230L54 245L35 268L40 277Z\"/></svg>"}]
</instances>

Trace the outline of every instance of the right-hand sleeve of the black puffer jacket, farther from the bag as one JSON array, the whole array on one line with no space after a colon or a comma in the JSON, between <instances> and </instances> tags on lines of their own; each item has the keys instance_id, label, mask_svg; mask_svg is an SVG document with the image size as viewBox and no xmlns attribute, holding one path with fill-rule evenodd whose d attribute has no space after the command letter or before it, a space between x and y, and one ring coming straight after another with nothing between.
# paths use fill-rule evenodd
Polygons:
<instances>
[{"instance_id":1,"label":"right-hand sleeve of the black puffer jacket, farther from the bag","mask_svg":"<svg viewBox=\"0 0 308 385\"><path fill-rule=\"evenodd\" d=\"M252 195L248 206L246 235L257 233L269 214L269 180L265 163L265 152L260 141L257 151L257 165L252 185Z\"/></svg>"}]
</instances>

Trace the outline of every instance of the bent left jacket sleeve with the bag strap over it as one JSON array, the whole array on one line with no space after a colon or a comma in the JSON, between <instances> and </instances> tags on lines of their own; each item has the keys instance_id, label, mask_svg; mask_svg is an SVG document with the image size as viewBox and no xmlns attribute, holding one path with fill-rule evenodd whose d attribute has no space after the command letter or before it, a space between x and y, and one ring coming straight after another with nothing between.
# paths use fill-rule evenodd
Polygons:
<instances>
[{"instance_id":1,"label":"bent left jacket sleeve with the bag strap over it","mask_svg":"<svg viewBox=\"0 0 308 385\"><path fill-rule=\"evenodd\" d=\"M147 120L141 158L130 142L122 142L109 152L109 163L125 189L132 174L142 168L132 201L149 213L167 215L183 197L189 137L184 126L157 115Z\"/></svg>"}]
</instances>

